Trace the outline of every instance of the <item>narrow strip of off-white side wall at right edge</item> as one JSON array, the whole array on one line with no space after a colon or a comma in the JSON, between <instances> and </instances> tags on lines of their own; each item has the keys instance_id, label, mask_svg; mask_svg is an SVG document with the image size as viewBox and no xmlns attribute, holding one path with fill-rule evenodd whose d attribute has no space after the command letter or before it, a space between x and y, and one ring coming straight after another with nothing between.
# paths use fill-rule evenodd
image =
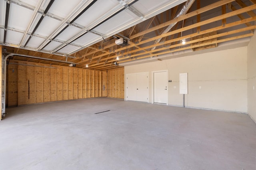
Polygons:
<instances>
[{"instance_id":1,"label":"narrow strip of off-white side wall at right edge","mask_svg":"<svg viewBox=\"0 0 256 170\"><path fill-rule=\"evenodd\" d=\"M256 123L256 35L252 36L248 53L248 114ZM254 87L254 89L253 89Z\"/></svg>"}]
</instances>

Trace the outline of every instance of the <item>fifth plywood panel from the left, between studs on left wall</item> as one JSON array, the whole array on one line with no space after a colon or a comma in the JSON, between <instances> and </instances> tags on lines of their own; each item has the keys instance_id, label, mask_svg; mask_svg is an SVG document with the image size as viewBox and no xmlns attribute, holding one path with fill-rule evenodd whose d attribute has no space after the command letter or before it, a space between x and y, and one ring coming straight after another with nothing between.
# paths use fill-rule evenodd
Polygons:
<instances>
[{"instance_id":1,"label":"fifth plywood panel from the left, between studs on left wall","mask_svg":"<svg viewBox=\"0 0 256 170\"><path fill-rule=\"evenodd\" d=\"M44 102L50 101L50 68L43 67Z\"/></svg>"}]
</instances>

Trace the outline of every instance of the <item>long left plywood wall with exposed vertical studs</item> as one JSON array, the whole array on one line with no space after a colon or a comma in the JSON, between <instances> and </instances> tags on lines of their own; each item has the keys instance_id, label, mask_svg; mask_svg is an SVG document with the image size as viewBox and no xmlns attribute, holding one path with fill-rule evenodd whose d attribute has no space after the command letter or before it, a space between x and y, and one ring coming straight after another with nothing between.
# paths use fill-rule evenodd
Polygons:
<instances>
[{"instance_id":1,"label":"long left plywood wall with exposed vertical studs","mask_svg":"<svg viewBox=\"0 0 256 170\"><path fill-rule=\"evenodd\" d=\"M36 66L31 66L32 64ZM10 60L7 82L8 106L106 95L106 88L102 91L102 81L107 79L106 73L76 67L49 66Z\"/></svg>"}]
</instances>

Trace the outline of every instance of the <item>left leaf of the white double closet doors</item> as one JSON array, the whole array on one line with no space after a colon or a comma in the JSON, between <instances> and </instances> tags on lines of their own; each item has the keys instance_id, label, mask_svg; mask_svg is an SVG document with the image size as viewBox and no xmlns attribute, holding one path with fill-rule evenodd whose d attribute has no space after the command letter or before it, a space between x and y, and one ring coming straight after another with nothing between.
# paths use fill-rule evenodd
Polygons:
<instances>
[{"instance_id":1,"label":"left leaf of the white double closet doors","mask_svg":"<svg viewBox=\"0 0 256 170\"><path fill-rule=\"evenodd\" d=\"M126 75L127 84L127 100L137 101L137 75L127 74Z\"/></svg>"}]
</instances>

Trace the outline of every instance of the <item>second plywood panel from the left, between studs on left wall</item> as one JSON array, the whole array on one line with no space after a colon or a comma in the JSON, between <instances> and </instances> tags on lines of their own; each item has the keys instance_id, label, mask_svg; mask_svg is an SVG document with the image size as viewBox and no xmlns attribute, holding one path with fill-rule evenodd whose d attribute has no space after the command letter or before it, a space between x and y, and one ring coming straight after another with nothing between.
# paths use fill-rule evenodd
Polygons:
<instances>
[{"instance_id":1,"label":"second plywood panel from the left, between studs on left wall","mask_svg":"<svg viewBox=\"0 0 256 170\"><path fill-rule=\"evenodd\" d=\"M18 65L18 105L26 105L27 101L27 66Z\"/></svg>"}]
</instances>

